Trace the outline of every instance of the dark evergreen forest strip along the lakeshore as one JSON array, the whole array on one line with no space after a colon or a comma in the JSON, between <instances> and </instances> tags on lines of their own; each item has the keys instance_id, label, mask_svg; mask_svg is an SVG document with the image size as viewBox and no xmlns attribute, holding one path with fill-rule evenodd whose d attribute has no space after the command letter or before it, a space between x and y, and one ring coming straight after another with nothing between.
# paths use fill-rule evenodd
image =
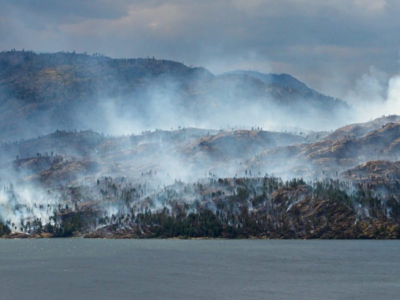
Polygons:
<instances>
[{"instance_id":1,"label":"dark evergreen forest strip along the lakeshore","mask_svg":"<svg viewBox=\"0 0 400 300\"><path fill-rule=\"evenodd\" d=\"M69 188L74 205L55 205L50 221L1 224L32 236L110 238L398 238L398 181L349 183L279 177L176 181L150 188L126 179L98 178L93 187ZM8 189L9 193L12 190ZM102 204L78 199L97 194ZM114 213L107 214L106 203ZM44 208L43 208L44 209ZM19 227L19 228L18 228ZM26 235L28 236L28 235Z\"/></svg>"}]
</instances>

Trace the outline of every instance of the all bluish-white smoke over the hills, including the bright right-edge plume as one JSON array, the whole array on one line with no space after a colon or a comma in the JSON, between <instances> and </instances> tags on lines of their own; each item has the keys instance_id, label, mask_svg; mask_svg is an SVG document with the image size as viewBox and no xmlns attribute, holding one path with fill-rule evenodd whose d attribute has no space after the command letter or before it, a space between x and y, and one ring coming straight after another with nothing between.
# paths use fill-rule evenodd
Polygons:
<instances>
[{"instance_id":1,"label":"all bluish-white smoke over the hills, including the bright right-edge plume","mask_svg":"<svg viewBox=\"0 0 400 300\"><path fill-rule=\"evenodd\" d=\"M95 67L104 67L96 63ZM113 63L124 61L116 60ZM71 97L65 106L43 105L39 113L40 117L45 116L41 118L43 133L48 133L46 130L81 127L92 128L112 137L92 131L57 132L1 148L1 158L8 161L14 159L15 155L26 157L36 152L39 153L38 157L41 157L40 153L53 151L67 155L64 156L65 161L54 162L51 158L47 165L35 171L23 168L15 173L6 174L4 171L8 180L0 192L1 220L17 224L16 230L19 230L19 224L26 224L27 220L40 218L42 223L51 222L54 210L59 210L58 204L72 207L72 203L76 202L82 205L90 202L90 205L102 207L107 216L115 215L118 211L126 215L130 207L146 207L153 195L157 195L158 201L153 203L153 207L161 208L164 205L161 205L163 193L167 193L165 187L177 189L180 182L198 183L198 180L209 177L255 177L267 172L277 176L313 178L315 170L320 171L321 167L304 165L304 160L297 159L292 153L285 153L287 148L275 148L276 159L267 160L266 163L258 164L257 155L261 157L260 152L278 145L310 142L314 138L305 138L306 133L334 129L357 118L350 114L351 110L344 103L311 89L267 85L261 79L243 74L215 76L204 69L155 59L135 63L150 64L150 67L162 64L166 68L172 64L172 71L183 75L170 71L147 76L136 82L137 86L134 87L131 87L132 82L123 81L126 78L109 75L106 80L93 79L93 86L88 86L85 93L78 94L77 99ZM88 64L85 67L90 66ZM104 74L113 74L110 66L104 68ZM77 76L79 71L76 71ZM91 91L93 94L90 94ZM55 94L57 92L54 91ZM362 76L348 95L356 109L365 110L358 110L362 117L400 112L400 77L388 78L385 73L371 68L370 73ZM40 96L44 99L48 97L45 90ZM62 95L58 98L63 99ZM365 101L370 105L365 105ZM65 109L65 114L46 116L47 112L60 107ZM60 124L65 127L57 128ZM240 134L234 132L251 127L257 129ZM155 128L168 131L147 131ZM285 138L277 134L268 139L262 137L262 132L268 128L294 128L296 132L286 132ZM24 128L24 133L29 134L29 130L29 127ZM142 133L127 135L138 132ZM10 132L9 136L15 140L20 137L17 134ZM214 135L216 138L212 140L210 136ZM307 150L301 146L293 146L293 149ZM87 164L71 163L71 160L96 161L99 166L85 169ZM35 163L26 165L40 166ZM334 159L321 161L320 164L322 168L333 165L335 170L341 167ZM24 177L32 174L30 172L36 176ZM97 178L104 181L103 178L107 176L115 179L96 184ZM36 181L32 180L33 177ZM29 183L23 183L24 180ZM57 187L54 187L55 182ZM75 187L81 188L84 193L81 190L74 193ZM134 192L130 191L132 188L135 188ZM131 195L133 200L126 198L126 194L129 197ZM73 201L72 197L75 197ZM181 194L176 193L176 199L179 197ZM185 198L196 200L188 192ZM15 226L12 227L15 229Z\"/></svg>"}]
</instances>

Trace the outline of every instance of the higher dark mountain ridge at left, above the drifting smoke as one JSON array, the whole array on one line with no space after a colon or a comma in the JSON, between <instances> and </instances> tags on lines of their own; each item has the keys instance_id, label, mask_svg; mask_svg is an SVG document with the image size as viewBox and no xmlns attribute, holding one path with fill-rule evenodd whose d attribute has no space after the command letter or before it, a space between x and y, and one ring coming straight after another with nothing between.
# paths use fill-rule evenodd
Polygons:
<instances>
[{"instance_id":1,"label":"higher dark mountain ridge at left, above the drifting smoke","mask_svg":"<svg viewBox=\"0 0 400 300\"><path fill-rule=\"evenodd\" d=\"M152 91L168 97L213 77L204 68L163 59L1 52L0 140L55 129L96 126L101 131L113 121L107 119L111 109L115 117L128 113L127 118L145 119Z\"/></svg>"}]
</instances>

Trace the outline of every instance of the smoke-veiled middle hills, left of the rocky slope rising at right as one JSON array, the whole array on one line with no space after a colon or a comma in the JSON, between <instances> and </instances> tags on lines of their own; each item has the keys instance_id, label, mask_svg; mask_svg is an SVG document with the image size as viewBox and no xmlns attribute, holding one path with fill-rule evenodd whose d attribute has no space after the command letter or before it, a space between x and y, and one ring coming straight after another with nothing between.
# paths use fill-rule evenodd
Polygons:
<instances>
[{"instance_id":1,"label":"smoke-veiled middle hills, left of the rocky slope rising at right","mask_svg":"<svg viewBox=\"0 0 400 300\"><path fill-rule=\"evenodd\" d=\"M306 139L300 135L264 130L182 128L126 136L104 136L91 130L58 130L1 145L0 162L3 169L15 169L23 180L49 178L39 180L46 186L58 184L58 179L52 182L51 178L65 178L65 182L70 182L70 178L82 174L81 166L88 161L96 167L83 167L87 169L83 172L85 175L102 172L140 176L153 172L148 179L157 180L168 174L183 173L194 179L210 171L227 175L235 172L246 158L264 149L304 142ZM10 161L13 162L10 164Z\"/></svg>"}]
</instances>

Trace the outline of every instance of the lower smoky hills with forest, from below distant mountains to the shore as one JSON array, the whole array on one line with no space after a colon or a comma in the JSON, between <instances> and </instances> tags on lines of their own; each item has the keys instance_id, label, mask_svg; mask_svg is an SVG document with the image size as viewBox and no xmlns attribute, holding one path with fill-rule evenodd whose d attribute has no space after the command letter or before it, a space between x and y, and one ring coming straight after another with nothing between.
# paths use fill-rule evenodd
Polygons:
<instances>
[{"instance_id":1,"label":"lower smoky hills with forest, from below distant mountains to the shore","mask_svg":"<svg viewBox=\"0 0 400 300\"><path fill-rule=\"evenodd\" d=\"M398 140L393 122L318 142L261 129L58 130L0 146L0 234L398 238Z\"/></svg>"}]
</instances>

